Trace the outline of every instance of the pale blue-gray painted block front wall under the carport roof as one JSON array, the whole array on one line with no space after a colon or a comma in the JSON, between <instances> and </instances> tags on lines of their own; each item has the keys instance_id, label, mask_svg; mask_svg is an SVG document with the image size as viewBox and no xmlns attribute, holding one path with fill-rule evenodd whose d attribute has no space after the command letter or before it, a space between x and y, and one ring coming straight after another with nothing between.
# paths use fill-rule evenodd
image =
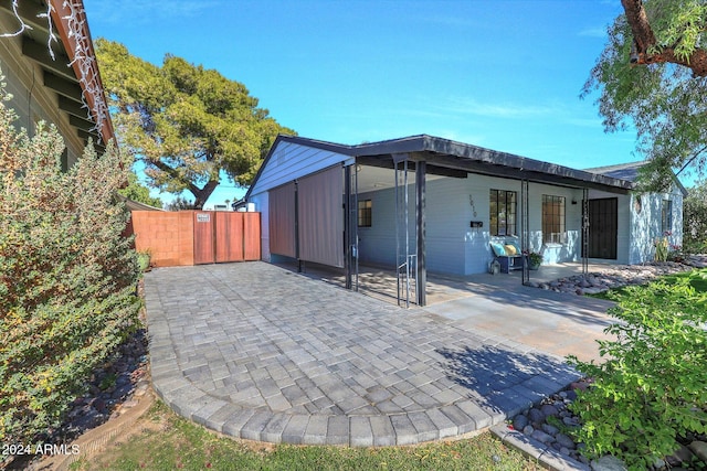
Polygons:
<instances>
[{"instance_id":1,"label":"pale blue-gray painted block front wall under the carport roof","mask_svg":"<svg viewBox=\"0 0 707 471\"><path fill-rule=\"evenodd\" d=\"M466 179L442 178L426 185L426 264L430 271L453 275L484 272L492 261L489 242L489 190L517 192L520 182L484 175ZM529 188L530 247L542 253L546 263L577 261L580 258L581 191L561 186L530 184ZM564 196L564 244L542 244L542 195ZM414 224L414 191L410 190L410 217ZM395 264L395 202L394 190L362 193L360 200L371 200L371 227L359 227L361 263L394 266ZM578 204L571 204L577 201ZM518 213L520 207L518 207ZM519 217L519 214L518 214ZM472 228L471 222L482 222ZM412 225L414 227L414 225ZM518 229L520 228L518 218ZM414 232L414 228L411 229ZM414 249L415 237L410 234Z\"/></svg>"}]
</instances>

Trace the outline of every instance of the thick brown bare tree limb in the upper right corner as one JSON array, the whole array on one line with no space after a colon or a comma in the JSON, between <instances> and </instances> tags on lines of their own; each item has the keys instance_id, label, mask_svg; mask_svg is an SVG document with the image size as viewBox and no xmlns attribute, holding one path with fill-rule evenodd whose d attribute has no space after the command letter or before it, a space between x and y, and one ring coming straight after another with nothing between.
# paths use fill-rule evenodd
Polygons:
<instances>
[{"instance_id":1,"label":"thick brown bare tree limb in the upper right corner","mask_svg":"<svg viewBox=\"0 0 707 471\"><path fill-rule=\"evenodd\" d=\"M643 7L643 1L621 0L621 4L633 33L636 54L632 57L632 63L642 65L672 63L690 68L695 76L707 76L707 51L701 47L696 49L686 60L678 57L673 47L661 47L657 53L648 53L652 47L657 46L657 41Z\"/></svg>"}]
</instances>

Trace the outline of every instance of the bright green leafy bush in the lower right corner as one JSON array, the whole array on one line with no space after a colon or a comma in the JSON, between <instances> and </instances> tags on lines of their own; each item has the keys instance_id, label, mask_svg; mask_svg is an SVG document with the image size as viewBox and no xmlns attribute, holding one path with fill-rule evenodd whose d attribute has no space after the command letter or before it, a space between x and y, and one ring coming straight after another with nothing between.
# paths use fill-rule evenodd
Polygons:
<instances>
[{"instance_id":1,"label":"bright green leafy bush in the lower right corner","mask_svg":"<svg viewBox=\"0 0 707 471\"><path fill-rule=\"evenodd\" d=\"M594 378L571 409L590 457L613 454L646 469L676 451L676 439L707 432L707 270L625 288L610 310L619 322L600 341L602 364L570 358Z\"/></svg>"}]
</instances>

